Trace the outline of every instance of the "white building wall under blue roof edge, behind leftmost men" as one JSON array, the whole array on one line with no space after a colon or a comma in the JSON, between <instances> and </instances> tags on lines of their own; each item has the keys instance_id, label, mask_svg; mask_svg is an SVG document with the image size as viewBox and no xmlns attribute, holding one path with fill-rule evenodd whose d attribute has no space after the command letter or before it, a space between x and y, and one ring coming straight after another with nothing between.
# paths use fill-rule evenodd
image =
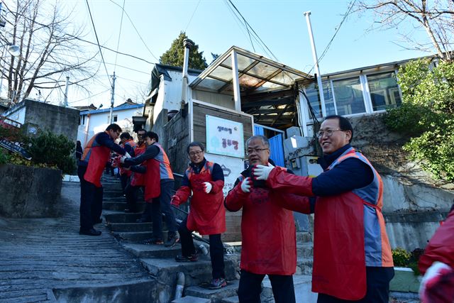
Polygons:
<instances>
[{"instance_id":1,"label":"white building wall under blue roof edge, behind leftmost men","mask_svg":"<svg viewBox=\"0 0 454 303\"><path fill-rule=\"evenodd\" d=\"M132 133L133 116L142 116L142 111L143 107L114 111L112 115L117 116L117 121L114 123L117 123L123 131ZM82 143L82 146L84 146L96 133L106 130L107 126L110 124L109 115L110 111L85 116L85 123L82 124L81 121L81 125L79 125L77 131L77 140Z\"/></svg>"}]
</instances>

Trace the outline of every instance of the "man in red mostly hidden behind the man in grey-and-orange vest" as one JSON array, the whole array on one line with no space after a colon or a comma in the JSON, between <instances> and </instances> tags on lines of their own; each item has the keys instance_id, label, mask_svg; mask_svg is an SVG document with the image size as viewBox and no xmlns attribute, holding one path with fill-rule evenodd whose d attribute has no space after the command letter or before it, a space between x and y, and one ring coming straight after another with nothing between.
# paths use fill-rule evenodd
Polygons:
<instances>
[{"instance_id":1,"label":"man in red mostly hidden behind the man in grey-and-orange vest","mask_svg":"<svg viewBox=\"0 0 454 303\"><path fill-rule=\"evenodd\" d=\"M138 143L135 146L134 154L135 157L142 155L145 153L145 150L147 148L147 145L145 144L145 138L143 136L145 135L146 131L143 128L140 128L137 131L137 138L138 138ZM145 165L145 162L143 162L141 165ZM145 174L141 174L140 172L133 172L131 175L131 182L129 182L128 185L126 185L125 189L125 195L126 195L126 204L128 205L127 209L125 209L126 213L131 213L131 212L136 212L137 211L137 205L136 205L136 200L137 200L137 191L140 187L145 186ZM148 206L149 205L149 206ZM150 207L151 205L147 203L145 206ZM145 213L148 213L150 211L145 211ZM151 217L145 219L144 221L151 221Z\"/></svg>"}]
</instances>

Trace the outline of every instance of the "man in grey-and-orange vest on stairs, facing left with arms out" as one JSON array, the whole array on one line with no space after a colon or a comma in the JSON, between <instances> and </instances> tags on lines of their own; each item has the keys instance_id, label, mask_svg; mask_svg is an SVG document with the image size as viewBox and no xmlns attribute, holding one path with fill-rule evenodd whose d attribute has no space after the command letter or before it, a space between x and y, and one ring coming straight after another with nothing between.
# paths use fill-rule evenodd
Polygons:
<instances>
[{"instance_id":1,"label":"man in grey-and-orange vest on stairs, facing left with arms out","mask_svg":"<svg viewBox=\"0 0 454 303\"><path fill-rule=\"evenodd\" d=\"M133 172L145 173L145 202L147 204L151 202L153 238L145 240L143 243L162 244L162 211L165 214L165 221L169 230L165 246L172 247L179 241L177 221L175 221L175 214L170 206L175 183L172 169L167 154L162 146L157 143L159 140L157 133L148 131L144 138L147 144L145 153L135 158L122 157L120 162L127 167L135 165L131 166ZM146 161L146 165L140 165L144 161Z\"/></svg>"}]
</instances>

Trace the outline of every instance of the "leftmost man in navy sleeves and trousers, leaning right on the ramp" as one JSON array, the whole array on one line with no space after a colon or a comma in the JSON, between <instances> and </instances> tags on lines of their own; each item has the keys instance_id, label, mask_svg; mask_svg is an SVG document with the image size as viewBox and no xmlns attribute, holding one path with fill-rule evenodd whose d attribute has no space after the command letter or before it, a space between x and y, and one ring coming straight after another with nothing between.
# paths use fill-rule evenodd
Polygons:
<instances>
[{"instance_id":1,"label":"leftmost man in navy sleeves and trousers, leaning right on the ramp","mask_svg":"<svg viewBox=\"0 0 454 303\"><path fill-rule=\"evenodd\" d=\"M106 162L110 160L111 150L124 155L125 158L131 157L126 150L114 142L120 133L121 127L115 123L107 126L106 131L96 133L85 146L79 161L77 175L80 180L79 234L81 235L101 235L101 231L94 229L93 225L102 222L100 218L103 199L101 175Z\"/></svg>"}]
</instances>

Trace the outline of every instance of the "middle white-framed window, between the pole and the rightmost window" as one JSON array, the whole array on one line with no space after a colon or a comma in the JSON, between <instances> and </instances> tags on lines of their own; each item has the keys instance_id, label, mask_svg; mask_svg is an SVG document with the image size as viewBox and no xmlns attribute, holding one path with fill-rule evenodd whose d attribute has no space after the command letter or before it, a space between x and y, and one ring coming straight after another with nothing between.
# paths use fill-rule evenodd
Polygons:
<instances>
[{"instance_id":1,"label":"middle white-framed window, between the pole and the rightmost window","mask_svg":"<svg viewBox=\"0 0 454 303\"><path fill-rule=\"evenodd\" d=\"M360 77L333 81L333 91L338 115L365 113Z\"/></svg>"}]
</instances>

